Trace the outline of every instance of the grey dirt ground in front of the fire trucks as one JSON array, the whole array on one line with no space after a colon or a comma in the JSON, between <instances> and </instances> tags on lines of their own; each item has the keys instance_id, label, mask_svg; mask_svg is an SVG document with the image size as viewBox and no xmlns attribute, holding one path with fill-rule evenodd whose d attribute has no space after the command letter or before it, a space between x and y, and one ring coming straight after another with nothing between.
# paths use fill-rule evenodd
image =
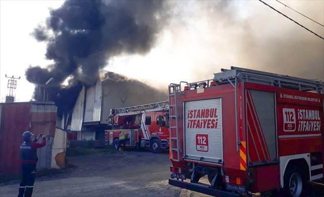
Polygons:
<instances>
[{"instance_id":1,"label":"grey dirt ground in front of the fire trucks","mask_svg":"<svg viewBox=\"0 0 324 197\"><path fill-rule=\"evenodd\" d=\"M207 197L168 185L167 153L128 150L67 159L73 167L36 177L33 197ZM19 180L0 184L0 197L16 197L18 186Z\"/></svg>"}]
</instances>

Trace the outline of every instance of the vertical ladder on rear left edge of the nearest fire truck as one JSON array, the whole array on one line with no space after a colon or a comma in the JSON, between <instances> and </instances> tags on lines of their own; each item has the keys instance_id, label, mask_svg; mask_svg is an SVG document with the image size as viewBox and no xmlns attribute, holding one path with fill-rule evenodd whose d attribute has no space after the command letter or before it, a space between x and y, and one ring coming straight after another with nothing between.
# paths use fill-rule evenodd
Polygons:
<instances>
[{"instance_id":1,"label":"vertical ladder on rear left edge of the nearest fire truck","mask_svg":"<svg viewBox=\"0 0 324 197\"><path fill-rule=\"evenodd\" d=\"M171 160L180 161L180 140L178 132L178 114L177 114L177 93L181 93L180 84L169 85L169 125L170 125L170 149L172 152ZM175 146L175 142L177 146ZM174 153L177 153L177 159L174 157Z\"/></svg>"}]
</instances>

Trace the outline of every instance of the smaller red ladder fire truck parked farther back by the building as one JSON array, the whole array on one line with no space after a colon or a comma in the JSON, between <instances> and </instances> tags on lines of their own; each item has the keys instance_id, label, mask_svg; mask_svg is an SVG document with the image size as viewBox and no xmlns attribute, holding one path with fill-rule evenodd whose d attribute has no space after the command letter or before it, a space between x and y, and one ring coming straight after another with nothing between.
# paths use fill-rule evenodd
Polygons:
<instances>
[{"instance_id":1,"label":"smaller red ladder fire truck parked farther back by the building","mask_svg":"<svg viewBox=\"0 0 324 197\"><path fill-rule=\"evenodd\" d=\"M108 125L112 129L105 131L105 140L118 149L119 134L126 132L126 146L161 153L169 148L168 112L169 101L111 109Z\"/></svg>"}]
</instances>

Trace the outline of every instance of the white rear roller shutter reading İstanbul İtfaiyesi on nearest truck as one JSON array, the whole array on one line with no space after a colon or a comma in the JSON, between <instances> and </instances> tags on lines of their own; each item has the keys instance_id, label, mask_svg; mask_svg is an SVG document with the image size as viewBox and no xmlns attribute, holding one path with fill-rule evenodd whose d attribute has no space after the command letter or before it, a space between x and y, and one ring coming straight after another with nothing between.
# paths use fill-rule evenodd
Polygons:
<instances>
[{"instance_id":1,"label":"white rear roller shutter reading \u0130stanbul \u0130tfaiyesi on nearest truck","mask_svg":"<svg viewBox=\"0 0 324 197\"><path fill-rule=\"evenodd\" d=\"M222 164L222 99L184 103L184 158Z\"/></svg>"}]
</instances>

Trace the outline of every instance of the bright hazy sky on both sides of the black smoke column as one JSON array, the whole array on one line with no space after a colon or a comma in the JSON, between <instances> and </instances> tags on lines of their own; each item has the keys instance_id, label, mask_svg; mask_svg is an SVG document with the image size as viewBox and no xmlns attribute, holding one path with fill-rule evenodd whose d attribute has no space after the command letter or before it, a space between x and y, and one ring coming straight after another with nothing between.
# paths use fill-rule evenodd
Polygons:
<instances>
[{"instance_id":1,"label":"bright hazy sky on both sides of the black smoke column","mask_svg":"<svg viewBox=\"0 0 324 197\"><path fill-rule=\"evenodd\" d=\"M300 24L324 36L324 28L276 1L266 1ZM282 1L324 24L324 1ZM46 67L46 43L31 35L60 0L0 0L0 99L5 74L17 82L16 100L29 101L33 84L28 66ZM247 67L324 80L324 41L259 1L170 1L172 17L154 47L142 55L118 55L105 70L166 89L170 83L211 79L220 68Z\"/></svg>"}]
</instances>

